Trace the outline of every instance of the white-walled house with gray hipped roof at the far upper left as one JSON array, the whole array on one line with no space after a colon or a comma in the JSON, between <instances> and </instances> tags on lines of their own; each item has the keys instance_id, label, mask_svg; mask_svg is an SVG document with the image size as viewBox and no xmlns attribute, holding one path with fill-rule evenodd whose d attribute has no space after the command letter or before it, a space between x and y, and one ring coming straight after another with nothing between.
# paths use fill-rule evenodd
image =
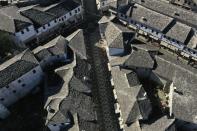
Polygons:
<instances>
[{"instance_id":1,"label":"white-walled house with gray hipped roof at the far upper left","mask_svg":"<svg viewBox=\"0 0 197 131\"><path fill-rule=\"evenodd\" d=\"M0 31L8 33L18 46L24 47L23 43L36 36L32 21L22 16L18 7L0 8L0 18Z\"/></svg>"}]
</instances>

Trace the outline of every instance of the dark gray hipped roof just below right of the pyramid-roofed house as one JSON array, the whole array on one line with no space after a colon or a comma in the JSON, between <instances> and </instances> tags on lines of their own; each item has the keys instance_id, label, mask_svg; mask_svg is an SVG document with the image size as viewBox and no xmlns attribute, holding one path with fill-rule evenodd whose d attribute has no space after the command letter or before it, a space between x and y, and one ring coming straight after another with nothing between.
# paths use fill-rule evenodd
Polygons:
<instances>
[{"instance_id":1,"label":"dark gray hipped roof just below right of the pyramid-roofed house","mask_svg":"<svg viewBox=\"0 0 197 131\"><path fill-rule=\"evenodd\" d=\"M154 66L154 60L150 54L143 50L134 51L125 61L124 66L129 68L150 68Z\"/></svg>"}]
</instances>

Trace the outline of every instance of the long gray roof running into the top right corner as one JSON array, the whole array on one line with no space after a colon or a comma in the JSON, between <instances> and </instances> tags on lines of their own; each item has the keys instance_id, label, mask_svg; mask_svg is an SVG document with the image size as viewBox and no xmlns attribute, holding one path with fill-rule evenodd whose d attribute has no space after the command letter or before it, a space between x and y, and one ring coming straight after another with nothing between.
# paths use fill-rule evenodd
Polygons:
<instances>
[{"instance_id":1,"label":"long gray roof running into the top right corner","mask_svg":"<svg viewBox=\"0 0 197 131\"><path fill-rule=\"evenodd\" d=\"M177 20L185 22L186 24L188 23L197 28L197 14L194 12L162 2L160 0L143 0L144 2L141 2L141 0L133 1L159 13L174 17ZM176 13L178 15L175 15Z\"/></svg>"}]
</instances>

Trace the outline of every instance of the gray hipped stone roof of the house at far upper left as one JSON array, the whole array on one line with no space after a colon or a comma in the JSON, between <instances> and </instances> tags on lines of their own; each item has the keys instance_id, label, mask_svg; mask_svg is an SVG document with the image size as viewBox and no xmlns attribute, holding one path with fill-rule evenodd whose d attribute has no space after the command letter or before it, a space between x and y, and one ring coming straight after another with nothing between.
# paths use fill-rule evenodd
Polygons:
<instances>
[{"instance_id":1,"label":"gray hipped stone roof of the house at far upper left","mask_svg":"<svg viewBox=\"0 0 197 131\"><path fill-rule=\"evenodd\" d=\"M0 30L15 33L32 24L32 22L20 15L19 8L7 6L0 8Z\"/></svg>"}]
</instances>

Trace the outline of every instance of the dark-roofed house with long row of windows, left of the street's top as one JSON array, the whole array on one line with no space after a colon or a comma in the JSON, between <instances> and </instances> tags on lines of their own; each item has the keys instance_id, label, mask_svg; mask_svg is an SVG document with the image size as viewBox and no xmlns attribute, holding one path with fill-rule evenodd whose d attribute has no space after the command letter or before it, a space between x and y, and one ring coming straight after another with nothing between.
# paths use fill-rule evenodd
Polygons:
<instances>
[{"instance_id":1,"label":"dark-roofed house with long row of windows, left of the street's top","mask_svg":"<svg viewBox=\"0 0 197 131\"><path fill-rule=\"evenodd\" d=\"M21 9L21 14L34 23L37 39L40 40L58 33L63 25L69 26L80 22L82 12L81 5L73 0L66 0L47 7L37 5L30 9Z\"/></svg>"}]
</instances>

